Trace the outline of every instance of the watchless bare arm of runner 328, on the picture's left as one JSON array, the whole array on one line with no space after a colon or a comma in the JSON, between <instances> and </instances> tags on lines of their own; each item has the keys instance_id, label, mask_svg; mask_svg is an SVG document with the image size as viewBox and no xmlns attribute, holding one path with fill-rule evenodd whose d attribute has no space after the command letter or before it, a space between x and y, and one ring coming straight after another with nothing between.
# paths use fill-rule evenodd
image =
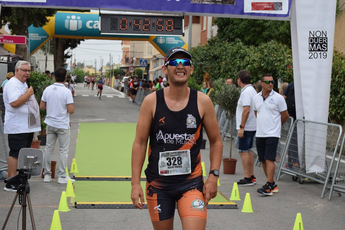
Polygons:
<instances>
[{"instance_id":1,"label":"watchless bare arm of runner 328, on the picture's left","mask_svg":"<svg viewBox=\"0 0 345 230\"><path fill-rule=\"evenodd\" d=\"M137 130L135 139L133 142L132 147L132 191L131 191L131 199L133 202L134 207L142 209L144 205L144 193L142 191L140 185L140 176L142 166L145 161L146 149L147 149L147 141L150 134L150 127L153 122L152 116L152 103L153 95L150 94L147 96L144 101L142 102L139 118L137 122ZM154 101L155 102L155 101ZM156 107L156 106L155 106ZM140 197L140 202L138 199Z\"/></svg>"}]
</instances>

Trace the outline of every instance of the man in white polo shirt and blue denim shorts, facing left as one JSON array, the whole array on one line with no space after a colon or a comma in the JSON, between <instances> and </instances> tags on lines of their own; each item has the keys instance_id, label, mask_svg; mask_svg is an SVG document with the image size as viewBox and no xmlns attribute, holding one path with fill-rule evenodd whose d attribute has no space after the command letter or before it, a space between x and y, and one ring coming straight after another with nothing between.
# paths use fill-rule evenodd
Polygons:
<instances>
[{"instance_id":1,"label":"man in white polo shirt and blue denim shorts, facing left","mask_svg":"<svg viewBox=\"0 0 345 230\"><path fill-rule=\"evenodd\" d=\"M244 170L244 179L239 180L237 185L253 186L256 184L252 153L256 132L256 117L252 100L257 93L250 84L250 73L247 70L238 72L237 84L242 88L236 108L236 129L238 130L238 152L241 155Z\"/></svg>"}]
</instances>

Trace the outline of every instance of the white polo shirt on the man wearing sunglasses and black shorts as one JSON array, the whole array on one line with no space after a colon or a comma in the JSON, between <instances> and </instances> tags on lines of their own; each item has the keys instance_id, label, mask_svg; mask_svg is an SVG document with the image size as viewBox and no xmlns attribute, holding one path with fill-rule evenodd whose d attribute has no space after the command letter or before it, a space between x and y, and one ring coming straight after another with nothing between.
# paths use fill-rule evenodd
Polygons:
<instances>
[{"instance_id":1,"label":"white polo shirt on the man wearing sunglasses and black shorts","mask_svg":"<svg viewBox=\"0 0 345 230\"><path fill-rule=\"evenodd\" d=\"M253 97L253 109L256 113L256 137L279 137L282 127L281 112L287 110L282 95L272 90L264 100L262 91Z\"/></svg>"}]
</instances>

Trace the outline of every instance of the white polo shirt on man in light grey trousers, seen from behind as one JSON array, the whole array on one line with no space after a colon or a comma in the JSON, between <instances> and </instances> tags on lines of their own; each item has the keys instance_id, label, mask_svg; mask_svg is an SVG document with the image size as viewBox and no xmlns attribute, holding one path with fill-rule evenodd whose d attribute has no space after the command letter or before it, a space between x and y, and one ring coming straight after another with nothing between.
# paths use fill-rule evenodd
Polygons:
<instances>
[{"instance_id":1,"label":"white polo shirt on man in light grey trousers, seen from behind","mask_svg":"<svg viewBox=\"0 0 345 230\"><path fill-rule=\"evenodd\" d=\"M43 91L41 101L47 103L44 123L58 129L69 129L67 105L73 104L71 91L62 83L54 83Z\"/></svg>"}]
</instances>

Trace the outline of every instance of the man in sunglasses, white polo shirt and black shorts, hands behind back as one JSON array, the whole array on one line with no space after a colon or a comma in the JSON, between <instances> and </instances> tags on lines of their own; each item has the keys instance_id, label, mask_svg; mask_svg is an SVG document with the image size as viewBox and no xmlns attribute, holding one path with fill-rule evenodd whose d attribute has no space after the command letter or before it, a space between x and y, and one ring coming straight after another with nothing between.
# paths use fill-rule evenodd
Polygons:
<instances>
[{"instance_id":1,"label":"man in sunglasses, white polo shirt and black shorts, hands behind back","mask_svg":"<svg viewBox=\"0 0 345 230\"><path fill-rule=\"evenodd\" d=\"M262 91L253 98L253 109L257 118L256 149L259 161L262 162L267 183L258 193L272 196L278 192L274 182L274 170L277 155L277 146L280 138L280 128L289 118L285 99L273 90L272 75L265 73L261 77Z\"/></svg>"}]
</instances>

